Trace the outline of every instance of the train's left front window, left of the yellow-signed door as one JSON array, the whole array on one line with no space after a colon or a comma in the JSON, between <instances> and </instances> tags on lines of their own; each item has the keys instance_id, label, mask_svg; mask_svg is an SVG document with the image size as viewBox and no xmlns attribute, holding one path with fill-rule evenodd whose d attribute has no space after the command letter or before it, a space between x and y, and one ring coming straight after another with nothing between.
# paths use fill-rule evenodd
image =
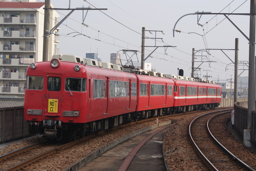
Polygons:
<instances>
[{"instance_id":1,"label":"train's left front window, left of the yellow-signed door","mask_svg":"<svg viewBox=\"0 0 256 171\"><path fill-rule=\"evenodd\" d=\"M43 77L27 76L27 89L30 90L42 90L44 85Z\"/></svg>"}]
</instances>

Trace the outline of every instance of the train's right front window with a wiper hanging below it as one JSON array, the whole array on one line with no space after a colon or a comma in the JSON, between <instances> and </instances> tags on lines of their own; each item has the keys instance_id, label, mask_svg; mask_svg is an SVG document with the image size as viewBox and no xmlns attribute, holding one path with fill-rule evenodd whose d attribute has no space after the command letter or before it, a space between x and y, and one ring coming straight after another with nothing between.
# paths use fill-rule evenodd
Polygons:
<instances>
[{"instance_id":1,"label":"train's right front window with a wiper hanging below it","mask_svg":"<svg viewBox=\"0 0 256 171\"><path fill-rule=\"evenodd\" d=\"M72 92L85 92L86 79L85 78L66 78L65 90Z\"/></svg>"}]
</instances>

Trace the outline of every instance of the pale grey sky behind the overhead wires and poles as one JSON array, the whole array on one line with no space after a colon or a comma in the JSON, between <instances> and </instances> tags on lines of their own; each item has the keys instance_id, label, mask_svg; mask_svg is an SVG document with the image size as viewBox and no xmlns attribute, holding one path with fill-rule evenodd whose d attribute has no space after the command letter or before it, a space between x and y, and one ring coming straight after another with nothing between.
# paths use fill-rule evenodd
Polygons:
<instances>
[{"instance_id":1,"label":"pale grey sky behind the overhead wires and poles","mask_svg":"<svg viewBox=\"0 0 256 171\"><path fill-rule=\"evenodd\" d=\"M69 7L69 0L51 0L51 3L55 8ZM102 12L119 21L126 27L114 21L99 10L88 11L84 23L89 27L85 27L81 24L82 11L77 10L63 22L64 25L60 26L59 33L61 36L57 48L60 49L61 54L73 54L85 57L86 53L97 53L98 48L99 58L101 58L102 61L110 62L110 53L116 53L122 49L141 51L141 30L142 27L145 27L146 30L161 30L164 32L165 35L161 32L157 32L156 37L163 38L164 43L156 42L156 46L177 46L176 48L169 47L166 50L168 55L165 55L165 48L159 47L151 55L153 58L148 58L145 61L146 63L152 63L152 67L155 68L157 72L177 75L177 68L179 68L184 70L184 76L190 76L192 48L195 48L195 50L206 49L206 47L208 49L234 49L235 38L239 38L239 61L249 61L249 41L231 24L230 21L227 19L223 20L225 18L223 15L218 15L217 17L215 15L202 15L199 23L204 25L203 27L197 25L197 15L185 16L179 20L175 28L182 32L175 32L175 37L173 37L172 31L176 21L180 17L197 11L232 13L235 10L233 13L250 13L249 0L71 1L71 8L88 7L89 5L92 8L108 8L108 10L102 10ZM221 10L223 11L221 12ZM60 21L63 18L62 14L67 15L70 10L61 10L58 12L60 12L60 18L58 19L58 21ZM84 10L84 15L85 14L86 10ZM247 37L249 37L249 16L230 15L229 18ZM221 20L223 21L221 22ZM206 24L206 22L208 23ZM78 33L72 33L74 31L87 35L90 38L78 35ZM199 35L190 32L195 32ZM72 34L67 35L69 33ZM155 32L152 33L153 34L146 32L146 36L155 37ZM200 36L204 34L204 37ZM95 39L99 39L100 41ZM161 41L161 39L158 40ZM155 41L145 39L145 45L154 46ZM146 47L145 57L154 49L154 47ZM225 50L224 52L232 61L234 61L234 51ZM124 59L125 56L122 55L122 51L119 53L121 53L122 59ZM208 75L212 76L209 80L217 81L219 77L220 82L225 82L226 79L230 79L230 77L233 79L234 64L230 64L232 62L227 56L220 50L210 50L209 53L211 55L207 55L206 52L198 52L196 54L207 55L207 57L203 56L203 58L207 58L203 59L203 61L217 61L210 63L210 67L208 62L204 62L200 66L200 68L202 68L200 72L201 78L206 79L203 76L208 72ZM137 56L138 61L141 62L141 53L138 53ZM201 61L201 57L197 58L198 59L195 61ZM133 61L137 61L137 58L134 57ZM195 67L200 64L201 62L195 62ZM138 64L138 66L140 66L140 64ZM225 71L226 67L227 70ZM244 68L248 69L246 66ZM243 69L243 66L239 66L239 69ZM239 70L238 74L242 71L243 70ZM244 71L240 76L248 76L248 70Z\"/></svg>"}]
</instances>

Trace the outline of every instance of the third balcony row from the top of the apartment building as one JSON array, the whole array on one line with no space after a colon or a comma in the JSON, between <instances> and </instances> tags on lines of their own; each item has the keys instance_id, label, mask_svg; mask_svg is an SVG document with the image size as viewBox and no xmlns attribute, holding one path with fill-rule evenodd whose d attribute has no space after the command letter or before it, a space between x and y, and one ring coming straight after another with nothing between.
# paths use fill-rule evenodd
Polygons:
<instances>
[{"instance_id":1,"label":"third balcony row from the top of the apartment building","mask_svg":"<svg viewBox=\"0 0 256 171\"><path fill-rule=\"evenodd\" d=\"M2 46L2 47L1 47ZM36 45L28 44L0 44L0 52L19 52L19 51L30 51L36 52Z\"/></svg>"}]
</instances>

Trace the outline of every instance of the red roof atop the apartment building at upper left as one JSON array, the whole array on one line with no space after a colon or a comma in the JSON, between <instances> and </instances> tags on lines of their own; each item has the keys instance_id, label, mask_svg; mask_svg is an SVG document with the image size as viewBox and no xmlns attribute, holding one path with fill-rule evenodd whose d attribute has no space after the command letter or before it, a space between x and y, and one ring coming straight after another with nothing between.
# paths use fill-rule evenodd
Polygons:
<instances>
[{"instance_id":1,"label":"red roof atop the apartment building at upper left","mask_svg":"<svg viewBox=\"0 0 256 171\"><path fill-rule=\"evenodd\" d=\"M41 8L41 2L0 2L0 8Z\"/></svg>"}]
</instances>

